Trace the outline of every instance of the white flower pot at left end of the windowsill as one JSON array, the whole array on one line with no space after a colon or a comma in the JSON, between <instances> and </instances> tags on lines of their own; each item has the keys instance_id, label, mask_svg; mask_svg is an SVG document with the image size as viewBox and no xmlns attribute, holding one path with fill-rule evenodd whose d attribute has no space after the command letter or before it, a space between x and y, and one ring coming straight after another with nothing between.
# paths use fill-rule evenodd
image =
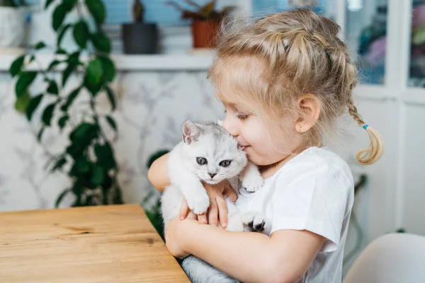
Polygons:
<instances>
[{"instance_id":1,"label":"white flower pot at left end of the windowsill","mask_svg":"<svg viewBox=\"0 0 425 283\"><path fill-rule=\"evenodd\" d=\"M24 0L0 0L0 48L20 47L25 39Z\"/></svg>"}]
</instances>

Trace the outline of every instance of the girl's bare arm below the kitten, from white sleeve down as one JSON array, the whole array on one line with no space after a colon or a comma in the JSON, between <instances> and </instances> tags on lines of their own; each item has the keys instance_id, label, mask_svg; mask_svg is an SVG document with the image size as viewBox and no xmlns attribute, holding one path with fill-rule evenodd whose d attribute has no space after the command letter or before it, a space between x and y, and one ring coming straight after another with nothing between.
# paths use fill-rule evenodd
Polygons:
<instances>
[{"instance_id":1,"label":"girl's bare arm below the kitten, from white sleeve down","mask_svg":"<svg viewBox=\"0 0 425 283\"><path fill-rule=\"evenodd\" d=\"M279 230L271 237L229 232L192 219L174 219L166 229L171 254L195 255L242 282L297 282L324 240L305 230Z\"/></svg>"}]
</instances>

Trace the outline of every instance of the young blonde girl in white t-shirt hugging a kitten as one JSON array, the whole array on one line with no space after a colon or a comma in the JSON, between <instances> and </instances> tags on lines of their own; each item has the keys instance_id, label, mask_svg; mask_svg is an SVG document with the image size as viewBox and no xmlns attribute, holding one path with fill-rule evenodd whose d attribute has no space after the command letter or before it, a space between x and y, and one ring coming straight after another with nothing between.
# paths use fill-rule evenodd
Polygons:
<instances>
[{"instance_id":1,"label":"young blonde girl in white t-shirt hugging a kitten","mask_svg":"<svg viewBox=\"0 0 425 283\"><path fill-rule=\"evenodd\" d=\"M217 214L226 226L225 186L205 185L212 225L193 213L171 221L171 254L196 255L242 282L341 282L353 177L322 140L348 110L370 136L369 148L357 155L361 164L380 157L382 141L353 105L356 67L338 33L333 21L298 9L222 35L209 78L225 105L223 127L265 180L261 190L239 195L237 206L265 215L271 233L217 228ZM149 171L159 190L169 183L166 158ZM187 210L183 203L181 218Z\"/></svg>"}]
</instances>

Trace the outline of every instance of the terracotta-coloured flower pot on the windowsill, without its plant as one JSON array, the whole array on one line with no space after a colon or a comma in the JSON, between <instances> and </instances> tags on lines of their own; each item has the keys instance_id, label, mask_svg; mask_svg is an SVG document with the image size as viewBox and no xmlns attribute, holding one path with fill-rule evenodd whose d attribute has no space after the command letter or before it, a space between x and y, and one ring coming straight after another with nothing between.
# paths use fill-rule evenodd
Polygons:
<instances>
[{"instance_id":1,"label":"terracotta-coloured flower pot on the windowsill, without its plant","mask_svg":"<svg viewBox=\"0 0 425 283\"><path fill-rule=\"evenodd\" d=\"M220 21L193 21L192 36L194 48L214 48L217 45Z\"/></svg>"}]
</instances>

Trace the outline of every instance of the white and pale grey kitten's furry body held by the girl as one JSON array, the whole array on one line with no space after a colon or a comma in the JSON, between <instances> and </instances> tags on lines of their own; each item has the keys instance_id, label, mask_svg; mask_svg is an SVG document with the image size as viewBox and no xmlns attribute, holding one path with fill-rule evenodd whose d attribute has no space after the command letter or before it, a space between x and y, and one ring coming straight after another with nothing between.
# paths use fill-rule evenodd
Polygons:
<instances>
[{"instance_id":1,"label":"white and pale grey kitten's furry body held by the girl","mask_svg":"<svg viewBox=\"0 0 425 283\"><path fill-rule=\"evenodd\" d=\"M201 165L198 161L206 162ZM228 166L223 166L226 165L225 161L230 161ZM210 200L201 181L217 184L225 180L235 192L238 192L241 179L242 187L249 192L255 192L263 185L258 168L248 161L236 139L217 123L194 124L189 120L184 123L183 141L169 155L168 173L171 185L166 187L162 195L164 227L171 219L179 216L183 197L196 214L207 212ZM266 229L268 223L261 215L241 214L232 202L226 202L229 211L227 230ZM237 282L193 255L183 260L183 270L196 283Z\"/></svg>"}]
</instances>

